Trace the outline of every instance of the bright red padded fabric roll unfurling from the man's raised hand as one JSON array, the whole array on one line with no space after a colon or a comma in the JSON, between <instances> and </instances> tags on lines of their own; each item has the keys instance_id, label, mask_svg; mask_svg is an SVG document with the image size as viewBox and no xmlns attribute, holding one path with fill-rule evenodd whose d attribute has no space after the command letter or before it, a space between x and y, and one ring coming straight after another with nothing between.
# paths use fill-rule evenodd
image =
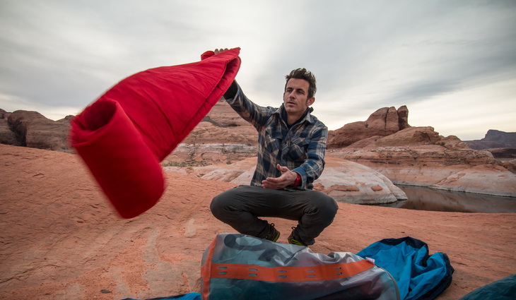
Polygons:
<instances>
[{"instance_id":1,"label":"bright red padded fabric roll unfurling from the man's raised hand","mask_svg":"<svg viewBox=\"0 0 516 300\"><path fill-rule=\"evenodd\" d=\"M240 68L240 48L120 81L71 124L81 155L119 215L136 217L165 191L160 161L199 124Z\"/></svg>"}]
</instances>

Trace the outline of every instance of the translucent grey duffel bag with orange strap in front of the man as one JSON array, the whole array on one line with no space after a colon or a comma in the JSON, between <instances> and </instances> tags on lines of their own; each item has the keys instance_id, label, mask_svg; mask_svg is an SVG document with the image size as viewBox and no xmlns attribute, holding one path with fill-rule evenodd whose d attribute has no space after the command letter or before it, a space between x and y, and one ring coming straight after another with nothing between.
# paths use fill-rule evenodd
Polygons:
<instances>
[{"instance_id":1,"label":"translucent grey duffel bag with orange strap in front of the man","mask_svg":"<svg viewBox=\"0 0 516 300\"><path fill-rule=\"evenodd\" d=\"M203 299L399 299L392 276L353 253L326 256L244 234L218 234L201 277Z\"/></svg>"}]
</instances>

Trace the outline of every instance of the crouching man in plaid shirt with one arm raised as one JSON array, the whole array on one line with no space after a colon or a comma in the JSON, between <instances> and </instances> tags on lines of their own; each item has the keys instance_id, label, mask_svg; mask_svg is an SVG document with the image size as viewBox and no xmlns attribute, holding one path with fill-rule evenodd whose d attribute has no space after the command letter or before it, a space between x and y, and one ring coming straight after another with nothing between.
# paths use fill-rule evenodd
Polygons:
<instances>
[{"instance_id":1,"label":"crouching man in plaid shirt with one arm raised","mask_svg":"<svg viewBox=\"0 0 516 300\"><path fill-rule=\"evenodd\" d=\"M224 50L215 50L218 54ZM244 95L236 81L225 100L259 133L258 161L250 186L225 191L211 202L211 212L242 234L277 241L274 224L259 217L298 220L290 244L312 245L332 224L338 206L325 193L313 191L324 169L328 129L312 116L315 77L305 68L286 76L283 104L261 107Z\"/></svg>"}]
</instances>

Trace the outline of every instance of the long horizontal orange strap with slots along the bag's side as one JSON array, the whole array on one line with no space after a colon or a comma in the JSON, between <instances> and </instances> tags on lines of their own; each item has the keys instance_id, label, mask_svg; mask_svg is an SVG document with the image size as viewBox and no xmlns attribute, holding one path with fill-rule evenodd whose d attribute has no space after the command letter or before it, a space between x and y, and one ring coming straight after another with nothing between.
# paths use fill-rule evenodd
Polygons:
<instances>
[{"instance_id":1,"label":"long horizontal orange strap with slots along the bag's side","mask_svg":"<svg viewBox=\"0 0 516 300\"><path fill-rule=\"evenodd\" d=\"M238 263L213 263L211 264L210 277L270 282L334 280L357 275L360 272L373 268L373 265L368 260L359 260L353 263L315 265L312 267L275 268Z\"/></svg>"}]
</instances>

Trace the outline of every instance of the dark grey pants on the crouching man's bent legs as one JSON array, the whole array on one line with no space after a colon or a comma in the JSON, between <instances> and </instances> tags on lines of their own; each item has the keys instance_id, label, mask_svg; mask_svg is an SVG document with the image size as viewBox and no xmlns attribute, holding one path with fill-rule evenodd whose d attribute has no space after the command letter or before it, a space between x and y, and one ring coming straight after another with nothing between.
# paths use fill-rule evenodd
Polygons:
<instances>
[{"instance_id":1,"label":"dark grey pants on the crouching man's bent legs","mask_svg":"<svg viewBox=\"0 0 516 300\"><path fill-rule=\"evenodd\" d=\"M261 186L237 186L211 201L211 212L241 234L264 238L269 223L259 217L298 220L294 234L307 245L332 224L339 206L320 191L271 190Z\"/></svg>"}]
</instances>

